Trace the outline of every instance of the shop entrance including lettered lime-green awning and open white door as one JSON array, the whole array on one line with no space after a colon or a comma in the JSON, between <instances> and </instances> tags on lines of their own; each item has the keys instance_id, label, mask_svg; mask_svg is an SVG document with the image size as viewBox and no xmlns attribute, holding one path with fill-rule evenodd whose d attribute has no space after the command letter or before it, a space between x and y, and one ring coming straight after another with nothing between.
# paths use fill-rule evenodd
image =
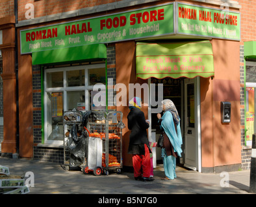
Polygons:
<instances>
[{"instance_id":1,"label":"shop entrance including lettered lime-green awning and open white door","mask_svg":"<svg viewBox=\"0 0 256 207\"><path fill-rule=\"evenodd\" d=\"M181 117L183 132L184 153L179 162L191 169L201 169L201 147L198 147L201 142L198 77L214 76L211 42L138 42L136 43L136 75L138 78L149 80L148 113L151 119L149 139L157 140L160 135L157 119L157 113L162 113L160 100L172 100ZM156 151L156 159L161 160L160 149Z\"/></svg>"}]
</instances>

